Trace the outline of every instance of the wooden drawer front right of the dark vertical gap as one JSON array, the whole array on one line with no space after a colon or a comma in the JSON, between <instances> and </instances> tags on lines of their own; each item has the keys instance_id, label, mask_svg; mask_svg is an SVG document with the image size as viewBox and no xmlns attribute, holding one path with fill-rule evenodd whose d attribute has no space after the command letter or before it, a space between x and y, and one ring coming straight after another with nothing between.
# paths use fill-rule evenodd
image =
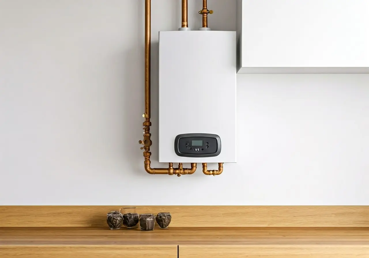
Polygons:
<instances>
[{"instance_id":1,"label":"wooden drawer front right of the dark vertical gap","mask_svg":"<svg viewBox=\"0 0 369 258\"><path fill-rule=\"evenodd\" d=\"M179 245L180 258L369 257L369 245Z\"/></svg>"}]
</instances>

